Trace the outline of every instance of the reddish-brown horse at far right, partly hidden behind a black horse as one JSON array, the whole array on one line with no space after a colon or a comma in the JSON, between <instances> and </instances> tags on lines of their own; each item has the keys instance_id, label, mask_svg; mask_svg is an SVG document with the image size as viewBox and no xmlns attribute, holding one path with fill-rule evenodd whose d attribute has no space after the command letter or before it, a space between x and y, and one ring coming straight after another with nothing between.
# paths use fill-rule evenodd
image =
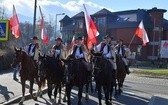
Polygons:
<instances>
[{"instance_id":1,"label":"reddish-brown horse at far right, partly hidden behind a black horse","mask_svg":"<svg viewBox=\"0 0 168 105\"><path fill-rule=\"evenodd\" d=\"M116 55L117 64L117 82L118 82L118 94L122 93L123 83L126 77L125 64L120 55Z\"/></svg>"}]
</instances>

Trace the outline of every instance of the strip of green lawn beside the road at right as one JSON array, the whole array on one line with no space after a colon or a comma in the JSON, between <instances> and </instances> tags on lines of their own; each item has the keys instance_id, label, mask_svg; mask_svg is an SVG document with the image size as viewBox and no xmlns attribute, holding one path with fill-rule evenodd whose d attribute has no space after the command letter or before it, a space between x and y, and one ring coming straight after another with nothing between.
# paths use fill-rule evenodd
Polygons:
<instances>
[{"instance_id":1,"label":"strip of green lawn beside the road at right","mask_svg":"<svg viewBox=\"0 0 168 105\"><path fill-rule=\"evenodd\" d=\"M152 69L152 70L134 70L133 74L145 76L162 76L168 77L168 69Z\"/></svg>"}]
</instances>

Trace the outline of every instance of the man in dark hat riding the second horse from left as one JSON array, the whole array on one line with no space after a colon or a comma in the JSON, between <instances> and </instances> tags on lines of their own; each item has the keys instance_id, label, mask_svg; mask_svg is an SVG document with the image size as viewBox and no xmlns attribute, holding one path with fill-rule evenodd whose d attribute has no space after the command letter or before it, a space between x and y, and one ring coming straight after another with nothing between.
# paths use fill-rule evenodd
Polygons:
<instances>
[{"instance_id":1,"label":"man in dark hat riding the second horse from left","mask_svg":"<svg viewBox=\"0 0 168 105\"><path fill-rule=\"evenodd\" d=\"M60 59L63 59L65 58L65 54L63 53L65 51L65 47L63 45L63 41L61 38L57 38L55 39L56 41L56 44L52 47L52 50L51 50L51 55L55 58L58 58L59 60Z\"/></svg>"}]
</instances>

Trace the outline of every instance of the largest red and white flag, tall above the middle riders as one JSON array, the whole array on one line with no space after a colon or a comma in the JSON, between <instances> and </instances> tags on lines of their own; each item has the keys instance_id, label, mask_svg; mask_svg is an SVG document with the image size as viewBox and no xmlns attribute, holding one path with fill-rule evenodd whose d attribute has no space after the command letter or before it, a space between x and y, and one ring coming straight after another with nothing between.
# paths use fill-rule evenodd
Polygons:
<instances>
[{"instance_id":1,"label":"largest red and white flag, tall above the middle riders","mask_svg":"<svg viewBox=\"0 0 168 105\"><path fill-rule=\"evenodd\" d=\"M97 28L92 20L92 18L90 17L90 15L87 13L86 7L85 5L84 9L85 9L85 23L86 23L86 30L87 30L87 34L88 34L88 38L87 38L87 47L89 49L91 49L92 43L97 44L97 36L99 35L99 32L97 31Z\"/></svg>"}]
</instances>

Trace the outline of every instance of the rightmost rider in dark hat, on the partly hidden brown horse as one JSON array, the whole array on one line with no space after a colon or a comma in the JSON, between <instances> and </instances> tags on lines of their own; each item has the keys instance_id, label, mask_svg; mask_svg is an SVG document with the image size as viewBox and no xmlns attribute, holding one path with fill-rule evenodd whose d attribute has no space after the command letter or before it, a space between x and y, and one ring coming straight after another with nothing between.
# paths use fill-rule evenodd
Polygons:
<instances>
[{"instance_id":1,"label":"rightmost rider in dark hat, on the partly hidden brown horse","mask_svg":"<svg viewBox=\"0 0 168 105\"><path fill-rule=\"evenodd\" d=\"M117 54L120 55L122 57L122 60L125 64L125 70L126 70L126 73L129 74L130 71L129 71L129 68L128 68L128 61L127 61L127 55L126 55L126 49L125 49L125 45L123 45L123 40L120 39L118 41L118 47L117 47Z\"/></svg>"}]
</instances>

